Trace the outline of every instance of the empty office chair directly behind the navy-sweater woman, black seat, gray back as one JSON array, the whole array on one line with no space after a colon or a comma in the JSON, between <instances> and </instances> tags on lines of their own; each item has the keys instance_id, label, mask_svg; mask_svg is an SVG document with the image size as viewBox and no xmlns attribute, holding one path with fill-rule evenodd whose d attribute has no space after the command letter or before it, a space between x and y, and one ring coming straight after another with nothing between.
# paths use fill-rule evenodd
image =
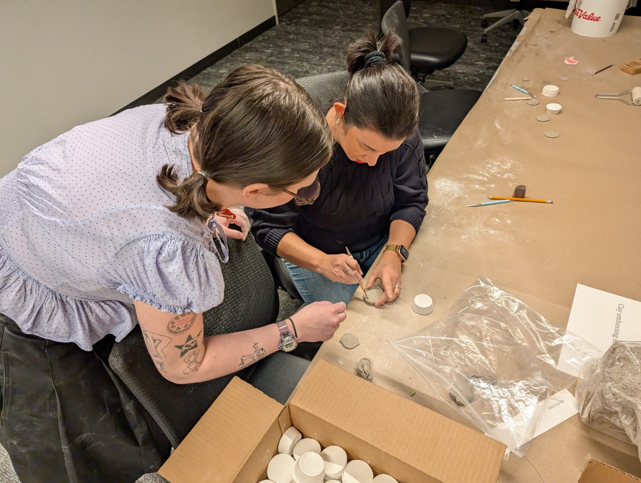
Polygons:
<instances>
[{"instance_id":1,"label":"empty office chair directly behind the navy-sweater woman, black seat, gray back","mask_svg":"<svg viewBox=\"0 0 641 483\"><path fill-rule=\"evenodd\" d=\"M394 3L383 15L381 29L383 33L394 30L396 35L401 37L401 65L409 72L410 53L405 46L409 44L410 32L401 0ZM445 144L480 96L481 92L471 89L433 90L421 95L419 131L428 164L431 165L438 153L445 148Z\"/></svg>"}]
</instances>

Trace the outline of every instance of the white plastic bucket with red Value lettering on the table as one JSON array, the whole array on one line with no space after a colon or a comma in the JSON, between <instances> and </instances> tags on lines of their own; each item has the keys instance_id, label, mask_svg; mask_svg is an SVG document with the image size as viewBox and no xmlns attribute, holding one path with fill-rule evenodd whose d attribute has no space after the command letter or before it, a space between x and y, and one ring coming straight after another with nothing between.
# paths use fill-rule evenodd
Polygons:
<instances>
[{"instance_id":1,"label":"white plastic bucket with red Value lettering on the table","mask_svg":"<svg viewBox=\"0 0 641 483\"><path fill-rule=\"evenodd\" d=\"M572 31L585 37L610 37L619 30L628 0L577 0Z\"/></svg>"}]
</instances>

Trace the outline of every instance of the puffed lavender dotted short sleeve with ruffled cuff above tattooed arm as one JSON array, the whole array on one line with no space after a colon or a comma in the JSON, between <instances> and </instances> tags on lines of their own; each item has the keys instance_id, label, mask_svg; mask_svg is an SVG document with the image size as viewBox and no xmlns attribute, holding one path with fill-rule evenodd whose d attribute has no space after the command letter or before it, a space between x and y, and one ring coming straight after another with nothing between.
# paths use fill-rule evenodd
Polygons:
<instances>
[{"instance_id":1,"label":"puffed lavender dotted short sleeve with ruffled cuff above tattooed arm","mask_svg":"<svg viewBox=\"0 0 641 483\"><path fill-rule=\"evenodd\" d=\"M216 255L173 235L148 235L129 242L99 275L132 301L172 314L209 310L221 303L225 289Z\"/></svg>"}]
</instances>

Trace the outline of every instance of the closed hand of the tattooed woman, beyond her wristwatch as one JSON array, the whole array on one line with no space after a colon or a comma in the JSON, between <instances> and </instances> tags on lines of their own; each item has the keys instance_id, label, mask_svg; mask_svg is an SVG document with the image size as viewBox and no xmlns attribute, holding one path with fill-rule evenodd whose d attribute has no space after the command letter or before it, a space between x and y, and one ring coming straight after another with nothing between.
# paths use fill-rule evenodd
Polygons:
<instances>
[{"instance_id":1,"label":"closed hand of the tattooed woman, beyond her wristwatch","mask_svg":"<svg viewBox=\"0 0 641 483\"><path fill-rule=\"evenodd\" d=\"M299 342L329 341L345 320L345 302L313 302L292 316Z\"/></svg>"}]
</instances>

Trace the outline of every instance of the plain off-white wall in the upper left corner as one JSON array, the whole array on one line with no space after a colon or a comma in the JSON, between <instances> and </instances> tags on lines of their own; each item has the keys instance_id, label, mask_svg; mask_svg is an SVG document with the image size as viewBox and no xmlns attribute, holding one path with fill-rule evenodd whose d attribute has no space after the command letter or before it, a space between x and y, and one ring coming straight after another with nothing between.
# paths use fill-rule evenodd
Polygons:
<instances>
[{"instance_id":1,"label":"plain off-white wall in the upper left corner","mask_svg":"<svg viewBox=\"0 0 641 483\"><path fill-rule=\"evenodd\" d=\"M273 15L272 0L0 0L0 176Z\"/></svg>"}]
</instances>

